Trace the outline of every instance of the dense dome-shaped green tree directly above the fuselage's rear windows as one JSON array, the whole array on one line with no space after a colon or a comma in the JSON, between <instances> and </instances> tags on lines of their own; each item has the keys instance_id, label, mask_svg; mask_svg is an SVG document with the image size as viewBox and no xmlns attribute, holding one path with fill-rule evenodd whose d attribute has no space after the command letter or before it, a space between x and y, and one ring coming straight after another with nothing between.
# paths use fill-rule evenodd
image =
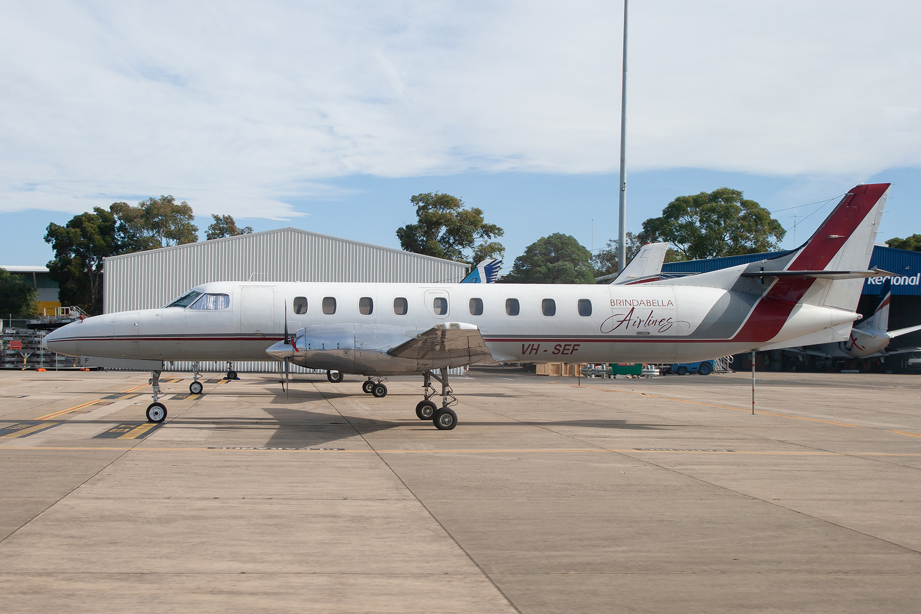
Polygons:
<instances>
[{"instance_id":1,"label":"dense dome-shaped green tree directly above the fuselage's rear windows","mask_svg":"<svg viewBox=\"0 0 921 614\"><path fill-rule=\"evenodd\" d=\"M505 284L594 284L591 252L575 237L554 233L531 243L515 259L505 277Z\"/></svg>"}]
</instances>

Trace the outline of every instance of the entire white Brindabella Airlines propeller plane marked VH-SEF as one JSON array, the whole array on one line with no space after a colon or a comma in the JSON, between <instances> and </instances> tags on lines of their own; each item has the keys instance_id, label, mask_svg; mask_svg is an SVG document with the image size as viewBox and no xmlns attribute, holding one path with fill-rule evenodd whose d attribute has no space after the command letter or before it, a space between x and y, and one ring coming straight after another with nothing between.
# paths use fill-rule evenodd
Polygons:
<instances>
[{"instance_id":1,"label":"entire white Brindabella Airlines propeller plane marked VH-SEF","mask_svg":"<svg viewBox=\"0 0 921 614\"><path fill-rule=\"evenodd\" d=\"M847 339L888 183L858 185L801 248L782 257L650 284L201 284L160 309L111 313L54 330L74 356L276 360L368 379L421 374L416 416L457 424L448 369L484 361L689 363ZM287 330L297 330L289 337ZM440 371L440 376L436 371ZM147 419L162 422L154 402ZM441 383L440 406L431 378ZM195 381L192 392L201 392Z\"/></svg>"}]
</instances>

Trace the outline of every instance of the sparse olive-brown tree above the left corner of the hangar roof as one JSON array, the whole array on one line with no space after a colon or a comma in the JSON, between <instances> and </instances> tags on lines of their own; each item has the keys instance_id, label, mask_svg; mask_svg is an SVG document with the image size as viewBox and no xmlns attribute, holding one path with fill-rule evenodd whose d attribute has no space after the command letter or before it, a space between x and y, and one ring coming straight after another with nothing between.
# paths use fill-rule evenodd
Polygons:
<instances>
[{"instance_id":1,"label":"sparse olive-brown tree above the left corner of the hangar roof","mask_svg":"<svg viewBox=\"0 0 921 614\"><path fill-rule=\"evenodd\" d=\"M198 226L192 224L195 219L192 207L185 201L176 204L172 196L151 196L136 207L112 203L109 209L119 218L119 232L136 237L135 247L157 249L198 240Z\"/></svg>"}]
</instances>

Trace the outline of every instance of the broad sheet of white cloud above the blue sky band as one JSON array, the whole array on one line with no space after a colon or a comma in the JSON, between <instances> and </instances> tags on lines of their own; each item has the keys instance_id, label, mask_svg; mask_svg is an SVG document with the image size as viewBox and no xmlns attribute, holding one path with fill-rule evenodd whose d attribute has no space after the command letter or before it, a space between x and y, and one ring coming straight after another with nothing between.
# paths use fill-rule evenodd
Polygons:
<instances>
[{"instance_id":1,"label":"broad sheet of white cloud above the blue sky band","mask_svg":"<svg viewBox=\"0 0 921 614\"><path fill-rule=\"evenodd\" d=\"M287 217L323 180L612 172L617 3L8 4L0 211L172 193ZM921 166L915 3L631 6L631 168Z\"/></svg>"}]
</instances>

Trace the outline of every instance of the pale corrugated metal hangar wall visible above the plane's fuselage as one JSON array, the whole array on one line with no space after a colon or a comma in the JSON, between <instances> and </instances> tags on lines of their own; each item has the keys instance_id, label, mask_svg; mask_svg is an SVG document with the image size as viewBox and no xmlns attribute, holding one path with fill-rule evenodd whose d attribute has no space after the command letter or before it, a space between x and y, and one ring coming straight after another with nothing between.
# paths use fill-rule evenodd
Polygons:
<instances>
[{"instance_id":1,"label":"pale corrugated metal hangar wall visible above the plane's fuselage","mask_svg":"<svg viewBox=\"0 0 921 614\"><path fill-rule=\"evenodd\" d=\"M450 284L467 265L344 238L279 228L107 258L106 313L163 307L207 282Z\"/></svg>"}]
</instances>

